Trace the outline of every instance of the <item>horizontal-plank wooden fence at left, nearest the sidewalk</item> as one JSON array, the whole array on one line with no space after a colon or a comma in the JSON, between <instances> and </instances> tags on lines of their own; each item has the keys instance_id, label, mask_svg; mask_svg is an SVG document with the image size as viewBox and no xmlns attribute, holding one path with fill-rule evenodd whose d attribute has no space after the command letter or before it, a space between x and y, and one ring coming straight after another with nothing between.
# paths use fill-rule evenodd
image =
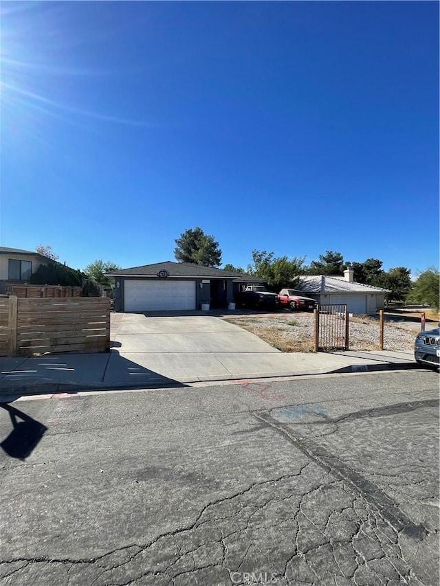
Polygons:
<instances>
[{"instance_id":1,"label":"horizontal-plank wooden fence at left, nearest the sidewalk","mask_svg":"<svg viewBox=\"0 0 440 586\"><path fill-rule=\"evenodd\" d=\"M0 353L108 352L110 304L107 297L0 298Z\"/></svg>"}]
</instances>

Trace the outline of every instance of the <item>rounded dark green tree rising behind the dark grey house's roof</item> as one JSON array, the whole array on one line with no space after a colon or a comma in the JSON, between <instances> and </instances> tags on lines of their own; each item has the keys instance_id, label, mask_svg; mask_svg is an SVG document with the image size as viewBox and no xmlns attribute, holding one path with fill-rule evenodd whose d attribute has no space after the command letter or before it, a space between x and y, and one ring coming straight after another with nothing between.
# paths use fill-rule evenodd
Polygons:
<instances>
[{"instance_id":1,"label":"rounded dark green tree rising behind the dark grey house's roof","mask_svg":"<svg viewBox=\"0 0 440 586\"><path fill-rule=\"evenodd\" d=\"M179 262L192 262L204 267L219 267L221 264L219 243L199 227L185 230L175 243L174 256Z\"/></svg>"}]
</instances>

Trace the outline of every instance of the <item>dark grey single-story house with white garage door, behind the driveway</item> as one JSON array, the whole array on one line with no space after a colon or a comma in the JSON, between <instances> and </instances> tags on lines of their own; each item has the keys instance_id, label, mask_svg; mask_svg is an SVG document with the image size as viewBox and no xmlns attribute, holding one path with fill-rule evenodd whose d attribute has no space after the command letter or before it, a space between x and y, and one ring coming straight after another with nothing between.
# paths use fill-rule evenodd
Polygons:
<instances>
[{"instance_id":1,"label":"dark grey single-story house with white garage door, behind the driveway","mask_svg":"<svg viewBox=\"0 0 440 586\"><path fill-rule=\"evenodd\" d=\"M264 280L190 262L157 262L107 273L115 280L115 311L172 311L226 308L234 293Z\"/></svg>"}]
</instances>

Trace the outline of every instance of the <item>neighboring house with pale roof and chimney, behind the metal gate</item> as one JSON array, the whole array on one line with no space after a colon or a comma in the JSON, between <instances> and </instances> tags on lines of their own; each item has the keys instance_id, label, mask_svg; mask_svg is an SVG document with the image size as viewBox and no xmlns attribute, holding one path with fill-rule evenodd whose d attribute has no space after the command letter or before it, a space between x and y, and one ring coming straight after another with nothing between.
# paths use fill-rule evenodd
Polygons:
<instances>
[{"instance_id":1,"label":"neighboring house with pale roof and chimney, behind the metal gate","mask_svg":"<svg viewBox=\"0 0 440 586\"><path fill-rule=\"evenodd\" d=\"M388 289L355 283L353 270L344 271L344 276L313 275L302 276L297 286L308 297L320 305L347 305L349 313L375 315L383 309Z\"/></svg>"}]
</instances>

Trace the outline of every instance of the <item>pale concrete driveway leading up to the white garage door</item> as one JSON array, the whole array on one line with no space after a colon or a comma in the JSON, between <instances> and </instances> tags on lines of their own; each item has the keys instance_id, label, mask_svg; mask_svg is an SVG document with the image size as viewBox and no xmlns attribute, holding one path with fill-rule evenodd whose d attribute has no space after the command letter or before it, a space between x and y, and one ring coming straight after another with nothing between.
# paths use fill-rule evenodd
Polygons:
<instances>
[{"instance_id":1,"label":"pale concrete driveway leading up to the white garage door","mask_svg":"<svg viewBox=\"0 0 440 586\"><path fill-rule=\"evenodd\" d=\"M275 357L285 357L259 337L203 313L116 314L111 340L104 381L126 380L127 370L139 383L151 383L154 374L179 382L267 374L274 372Z\"/></svg>"}]
</instances>

